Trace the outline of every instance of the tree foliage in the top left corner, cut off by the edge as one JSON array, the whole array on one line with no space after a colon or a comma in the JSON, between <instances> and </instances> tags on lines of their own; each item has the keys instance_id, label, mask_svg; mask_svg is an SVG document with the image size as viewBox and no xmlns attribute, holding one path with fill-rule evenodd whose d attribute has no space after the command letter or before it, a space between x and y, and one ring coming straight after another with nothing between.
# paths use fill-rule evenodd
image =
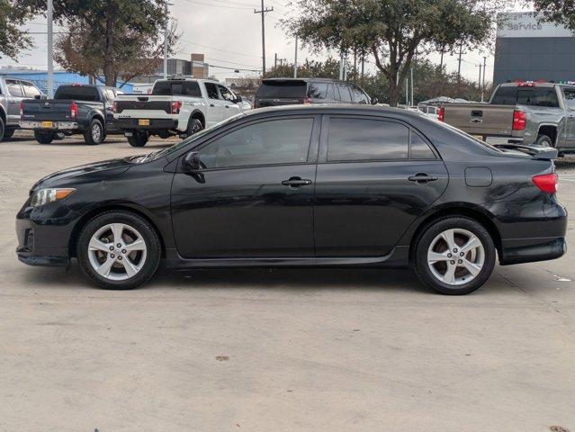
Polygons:
<instances>
[{"instance_id":1,"label":"tree foliage in the top left corner, cut off by the edge","mask_svg":"<svg viewBox=\"0 0 575 432\"><path fill-rule=\"evenodd\" d=\"M20 26L31 17L25 6L10 0L0 0L0 58L15 60L22 49L32 46L32 40Z\"/></svg>"}]
</instances>

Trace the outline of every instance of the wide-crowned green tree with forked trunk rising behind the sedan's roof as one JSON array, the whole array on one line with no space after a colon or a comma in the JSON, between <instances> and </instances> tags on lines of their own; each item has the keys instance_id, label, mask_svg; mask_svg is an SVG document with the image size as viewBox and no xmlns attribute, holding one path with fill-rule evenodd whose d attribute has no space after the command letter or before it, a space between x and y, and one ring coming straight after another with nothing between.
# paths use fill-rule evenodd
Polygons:
<instances>
[{"instance_id":1,"label":"wide-crowned green tree with forked trunk rising behind the sedan's roof","mask_svg":"<svg viewBox=\"0 0 575 432\"><path fill-rule=\"evenodd\" d=\"M495 0L499 1L499 0ZM478 0L296 0L301 14L284 27L311 49L365 50L397 105L416 52L490 40L499 4Z\"/></svg>"}]
</instances>

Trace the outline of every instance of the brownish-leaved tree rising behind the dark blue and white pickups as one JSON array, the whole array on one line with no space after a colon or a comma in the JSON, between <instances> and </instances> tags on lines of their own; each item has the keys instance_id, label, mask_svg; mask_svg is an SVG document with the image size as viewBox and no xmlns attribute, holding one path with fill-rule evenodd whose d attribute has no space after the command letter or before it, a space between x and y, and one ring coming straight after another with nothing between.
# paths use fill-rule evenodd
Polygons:
<instances>
[{"instance_id":1,"label":"brownish-leaved tree rising behind the dark blue and white pickups","mask_svg":"<svg viewBox=\"0 0 575 432\"><path fill-rule=\"evenodd\" d=\"M41 10L44 0L28 1ZM55 0L54 18L67 25L56 39L54 57L67 70L116 85L153 72L161 62L165 0ZM168 36L174 52L175 25Z\"/></svg>"}]
</instances>

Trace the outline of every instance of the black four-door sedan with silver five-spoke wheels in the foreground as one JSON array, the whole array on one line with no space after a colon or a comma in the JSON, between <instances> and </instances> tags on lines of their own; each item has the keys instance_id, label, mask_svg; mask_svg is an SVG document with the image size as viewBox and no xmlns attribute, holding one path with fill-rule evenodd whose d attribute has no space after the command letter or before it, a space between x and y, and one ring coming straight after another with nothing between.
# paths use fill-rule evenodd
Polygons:
<instances>
[{"instance_id":1,"label":"black four-door sedan with silver five-spoke wheels in the foreground","mask_svg":"<svg viewBox=\"0 0 575 432\"><path fill-rule=\"evenodd\" d=\"M112 289L146 283L164 259L412 266L439 293L471 293L496 257L566 251L557 152L523 151L389 108L256 110L147 156L41 179L17 215L17 254L33 266L75 257Z\"/></svg>"}]
</instances>

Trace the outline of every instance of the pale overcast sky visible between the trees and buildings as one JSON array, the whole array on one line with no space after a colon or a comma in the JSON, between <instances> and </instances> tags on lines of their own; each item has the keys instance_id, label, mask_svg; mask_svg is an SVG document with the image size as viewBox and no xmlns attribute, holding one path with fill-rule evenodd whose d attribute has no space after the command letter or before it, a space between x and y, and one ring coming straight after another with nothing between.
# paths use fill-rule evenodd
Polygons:
<instances>
[{"instance_id":1,"label":"pale overcast sky visible between the trees and buildings","mask_svg":"<svg viewBox=\"0 0 575 432\"><path fill-rule=\"evenodd\" d=\"M265 15L265 58L266 67L273 66L274 53L278 58L293 61L294 43L288 39L279 25L279 20L289 16L289 0L265 0L265 7L273 7L274 11ZM178 30L182 39L178 42L177 58L189 59L193 52L203 53L206 62L213 65L211 75L223 80L230 76L247 76L249 72L234 73L222 67L238 67L246 69L261 69L262 67L262 33L261 15L254 14L254 9L260 9L257 0L170 0L170 13L177 19ZM511 2L510 2L511 3ZM525 10L518 4L509 4L508 10ZM46 19L38 17L27 25L31 32L46 31ZM58 31L58 29L55 29ZM46 35L33 34L36 47L26 51L19 58L19 64L25 67L46 68ZM313 55L307 49L301 49L298 58L327 58L328 52ZM337 57L337 53L332 53ZM487 76L491 80L493 74L493 54L489 50L471 51L463 55L462 75L469 79L479 78L479 63L487 56ZM439 63L438 55L430 59ZM445 55L444 62L448 71L457 70L457 57ZM0 66L13 65L13 60L1 58ZM373 70L372 65L366 65ZM253 74L252 74L253 75Z\"/></svg>"}]
</instances>

